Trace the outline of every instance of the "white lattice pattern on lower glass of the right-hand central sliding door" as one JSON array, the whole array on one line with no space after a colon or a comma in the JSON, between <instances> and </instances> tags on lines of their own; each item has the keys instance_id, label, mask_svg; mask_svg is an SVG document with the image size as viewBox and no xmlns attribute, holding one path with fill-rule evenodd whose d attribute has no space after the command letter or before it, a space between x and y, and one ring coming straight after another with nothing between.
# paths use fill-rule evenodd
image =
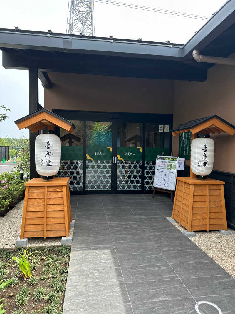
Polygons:
<instances>
[{"instance_id":1,"label":"white lattice pattern on lower glass of the right-hand central sliding door","mask_svg":"<svg viewBox=\"0 0 235 314\"><path fill-rule=\"evenodd\" d=\"M141 190L141 167L141 160L118 160L117 190Z\"/></svg>"}]
</instances>

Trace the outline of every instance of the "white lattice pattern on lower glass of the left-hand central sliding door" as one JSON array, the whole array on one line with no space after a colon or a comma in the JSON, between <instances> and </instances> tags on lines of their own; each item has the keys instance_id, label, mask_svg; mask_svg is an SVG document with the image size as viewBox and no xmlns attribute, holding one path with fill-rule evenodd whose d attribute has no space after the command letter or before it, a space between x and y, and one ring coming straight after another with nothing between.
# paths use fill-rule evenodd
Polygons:
<instances>
[{"instance_id":1,"label":"white lattice pattern on lower glass of the left-hand central sliding door","mask_svg":"<svg viewBox=\"0 0 235 314\"><path fill-rule=\"evenodd\" d=\"M86 160L86 190L111 190L111 160Z\"/></svg>"}]
</instances>

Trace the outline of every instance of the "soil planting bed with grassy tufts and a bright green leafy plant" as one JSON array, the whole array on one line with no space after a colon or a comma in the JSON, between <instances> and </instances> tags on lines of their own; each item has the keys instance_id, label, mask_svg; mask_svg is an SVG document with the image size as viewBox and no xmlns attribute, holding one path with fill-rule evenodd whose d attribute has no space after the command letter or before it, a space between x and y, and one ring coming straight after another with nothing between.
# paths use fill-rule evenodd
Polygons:
<instances>
[{"instance_id":1,"label":"soil planting bed with grassy tufts and a bright green leafy plant","mask_svg":"<svg viewBox=\"0 0 235 314\"><path fill-rule=\"evenodd\" d=\"M4 314L62 314L67 252L69 246L0 249L0 305L6 303L1 308L6 310Z\"/></svg>"}]
</instances>

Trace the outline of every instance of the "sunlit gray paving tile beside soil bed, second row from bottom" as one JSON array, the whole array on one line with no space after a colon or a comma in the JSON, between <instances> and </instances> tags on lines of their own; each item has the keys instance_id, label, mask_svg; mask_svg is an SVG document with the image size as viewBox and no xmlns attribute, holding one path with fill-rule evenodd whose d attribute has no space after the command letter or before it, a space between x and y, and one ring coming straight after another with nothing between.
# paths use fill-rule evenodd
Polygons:
<instances>
[{"instance_id":1,"label":"sunlit gray paving tile beside soil bed, second row from bottom","mask_svg":"<svg viewBox=\"0 0 235 314\"><path fill-rule=\"evenodd\" d=\"M102 284L87 287L68 287L65 294L65 309L129 303L125 284Z\"/></svg>"}]
</instances>

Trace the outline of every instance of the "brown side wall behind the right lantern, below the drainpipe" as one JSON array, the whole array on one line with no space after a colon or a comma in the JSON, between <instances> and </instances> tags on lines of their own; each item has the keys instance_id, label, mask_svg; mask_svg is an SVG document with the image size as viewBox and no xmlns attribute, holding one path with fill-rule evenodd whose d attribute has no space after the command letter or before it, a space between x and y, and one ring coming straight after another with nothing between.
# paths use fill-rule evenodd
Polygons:
<instances>
[{"instance_id":1,"label":"brown side wall behind the right lantern, below the drainpipe","mask_svg":"<svg viewBox=\"0 0 235 314\"><path fill-rule=\"evenodd\" d=\"M205 82L175 81L173 127L215 114L235 125L234 86L235 67L228 65L213 66ZM235 133L211 134L211 138L215 141L213 169L235 173ZM172 145L173 156L178 156L179 135L173 137Z\"/></svg>"}]
</instances>

